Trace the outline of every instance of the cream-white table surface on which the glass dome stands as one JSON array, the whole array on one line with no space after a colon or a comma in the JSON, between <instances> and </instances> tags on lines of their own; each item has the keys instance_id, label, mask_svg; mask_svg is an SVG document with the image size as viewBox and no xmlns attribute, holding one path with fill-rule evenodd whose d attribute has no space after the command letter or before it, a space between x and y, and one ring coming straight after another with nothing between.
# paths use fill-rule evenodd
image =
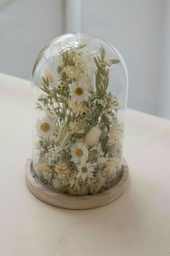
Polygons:
<instances>
[{"instance_id":1,"label":"cream-white table surface on which the glass dome stands","mask_svg":"<svg viewBox=\"0 0 170 256\"><path fill-rule=\"evenodd\" d=\"M0 255L170 255L170 121L127 111L130 183L115 202L64 210L24 183L31 155L30 82L0 74Z\"/></svg>"}]
</instances>

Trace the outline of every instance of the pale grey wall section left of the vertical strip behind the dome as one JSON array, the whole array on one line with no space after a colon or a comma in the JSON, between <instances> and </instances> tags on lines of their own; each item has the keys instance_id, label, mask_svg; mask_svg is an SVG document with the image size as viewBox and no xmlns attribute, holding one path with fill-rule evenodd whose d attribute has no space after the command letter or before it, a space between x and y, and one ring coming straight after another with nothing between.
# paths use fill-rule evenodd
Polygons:
<instances>
[{"instance_id":1,"label":"pale grey wall section left of the vertical strip behind the dome","mask_svg":"<svg viewBox=\"0 0 170 256\"><path fill-rule=\"evenodd\" d=\"M62 33L62 0L0 0L0 72L30 80L37 54Z\"/></svg>"}]
</instances>

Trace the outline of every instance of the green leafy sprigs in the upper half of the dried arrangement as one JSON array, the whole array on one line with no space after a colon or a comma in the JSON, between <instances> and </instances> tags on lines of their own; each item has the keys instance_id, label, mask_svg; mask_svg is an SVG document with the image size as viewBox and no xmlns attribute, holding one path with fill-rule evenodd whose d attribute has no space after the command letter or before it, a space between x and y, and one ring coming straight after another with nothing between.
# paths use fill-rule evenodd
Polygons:
<instances>
[{"instance_id":1,"label":"green leafy sprigs in the upper half of the dried arrangement","mask_svg":"<svg viewBox=\"0 0 170 256\"><path fill-rule=\"evenodd\" d=\"M118 64L120 60L106 60L104 46L100 47L99 56L94 56L94 67L96 67L96 87L95 90L91 92L89 101L86 102L89 112L87 114L75 115L68 106L68 100L71 100L69 95L69 85L71 85L75 79L68 77L65 69L68 67L75 67L76 51L80 51L79 56L81 56L81 48L84 47L86 47L86 45L81 45L78 49L71 48L70 50L63 52L62 64L57 68L58 85L54 88L50 88L47 77L42 77L40 89L45 93L45 95L41 95L38 99L37 108L41 110L48 109L49 111L54 111L59 118L58 121L60 126L65 125L66 127L69 127L70 121L86 121L85 133L89 132L89 129L94 126L99 126L102 131L108 132L109 127L112 125L112 121L116 116L112 111L109 111L109 105L104 106L103 101L105 97L107 98L108 104L112 103L113 106L118 105L117 97L107 93L107 88L109 85L109 68L114 64ZM107 143L107 137L103 143Z\"/></svg>"}]
</instances>

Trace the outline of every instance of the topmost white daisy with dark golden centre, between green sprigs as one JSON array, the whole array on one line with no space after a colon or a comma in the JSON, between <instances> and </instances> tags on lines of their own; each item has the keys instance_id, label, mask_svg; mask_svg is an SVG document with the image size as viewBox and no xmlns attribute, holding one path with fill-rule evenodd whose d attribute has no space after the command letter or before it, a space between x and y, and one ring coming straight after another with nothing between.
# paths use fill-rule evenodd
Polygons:
<instances>
[{"instance_id":1,"label":"topmost white daisy with dark golden centre, between green sprigs","mask_svg":"<svg viewBox=\"0 0 170 256\"><path fill-rule=\"evenodd\" d=\"M78 82L73 82L70 85L70 95L73 101L88 101L89 91L88 85L83 80L79 80Z\"/></svg>"}]
</instances>

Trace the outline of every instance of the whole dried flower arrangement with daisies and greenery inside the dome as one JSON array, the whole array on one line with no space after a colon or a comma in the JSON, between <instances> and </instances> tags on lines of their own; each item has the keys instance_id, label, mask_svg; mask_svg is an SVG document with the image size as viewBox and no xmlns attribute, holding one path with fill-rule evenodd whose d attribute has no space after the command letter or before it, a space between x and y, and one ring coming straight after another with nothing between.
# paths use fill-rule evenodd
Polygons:
<instances>
[{"instance_id":1,"label":"whole dried flower arrangement with daisies and greenery inside the dome","mask_svg":"<svg viewBox=\"0 0 170 256\"><path fill-rule=\"evenodd\" d=\"M93 53L80 45L61 54L53 73L45 70L36 106L44 116L36 122L34 166L45 184L68 195L93 195L117 176L122 165L120 101L107 89L109 72L119 62L106 59L104 46Z\"/></svg>"}]
</instances>

